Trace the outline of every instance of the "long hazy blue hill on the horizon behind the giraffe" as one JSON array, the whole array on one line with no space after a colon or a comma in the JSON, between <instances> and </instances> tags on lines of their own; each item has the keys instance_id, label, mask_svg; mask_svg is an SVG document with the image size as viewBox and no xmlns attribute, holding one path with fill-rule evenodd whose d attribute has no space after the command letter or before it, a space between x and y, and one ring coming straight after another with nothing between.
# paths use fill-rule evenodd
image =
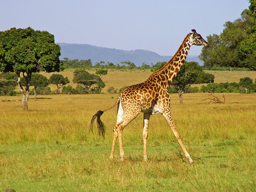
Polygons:
<instances>
[{"instance_id":1,"label":"long hazy blue hill on the horizon behind the giraffe","mask_svg":"<svg viewBox=\"0 0 256 192\"><path fill-rule=\"evenodd\" d=\"M61 47L61 60L65 57L71 60L91 59L93 64L104 61L105 63L112 62L116 65L122 61L131 61L139 67L143 62L149 65L151 63L156 64L156 62L169 61L172 58L172 56L161 56L155 52L141 49L137 49L135 51L124 51L120 49L97 47L89 44L57 44ZM203 65L203 62L199 60L197 55L188 56L186 61L195 61L198 62L199 65Z\"/></svg>"}]
</instances>

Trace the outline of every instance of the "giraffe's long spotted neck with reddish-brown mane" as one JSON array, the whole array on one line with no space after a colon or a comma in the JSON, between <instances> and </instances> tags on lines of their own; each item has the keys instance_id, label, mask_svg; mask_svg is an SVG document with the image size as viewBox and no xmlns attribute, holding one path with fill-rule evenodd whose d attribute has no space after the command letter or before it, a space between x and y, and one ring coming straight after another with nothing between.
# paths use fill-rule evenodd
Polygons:
<instances>
[{"instance_id":1,"label":"giraffe's long spotted neck with reddish-brown mane","mask_svg":"<svg viewBox=\"0 0 256 192\"><path fill-rule=\"evenodd\" d=\"M190 39L190 34L188 34L180 45L178 51L172 57L172 59L168 63L166 63L163 68L152 73L150 77L155 76L161 81L165 81L169 86L172 83L174 77L180 71L180 68L188 55L188 51L191 45L192 43Z\"/></svg>"}]
</instances>

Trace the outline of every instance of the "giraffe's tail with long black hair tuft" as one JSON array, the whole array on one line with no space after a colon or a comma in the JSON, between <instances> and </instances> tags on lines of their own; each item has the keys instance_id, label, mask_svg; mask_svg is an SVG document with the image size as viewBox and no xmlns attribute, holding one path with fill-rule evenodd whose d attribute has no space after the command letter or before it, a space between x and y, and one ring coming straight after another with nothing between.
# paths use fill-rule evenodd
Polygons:
<instances>
[{"instance_id":1,"label":"giraffe's tail with long black hair tuft","mask_svg":"<svg viewBox=\"0 0 256 192\"><path fill-rule=\"evenodd\" d=\"M108 108L108 109L106 109L106 110L104 110L104 111L107 111L107 110L109 110L109 109L115 107L115 106L117 105L117 103L120 101L120 99L121 99L121 94L118 96L118 98L117 98L117 100L116 100L116 103L115 103L112 107L110 107L110 108ZM92 120L91 120L91 125L90 125L90 130L92 130L93 122L94 122L94 120L95 120L96 117L97 117L97 121L96 121L96 122L97 122L98 132L99 132L99 135L101 135L103 138L105 138L105 129L106 129L106 126L103 124L103 122L101 121L100 117L101 117L101 115L104 113L104 111L99 110L95 115L93 115L93 116L92 116ZM93 131L92 131L92 132L93 132Z\"/></svg>"}]
</instances>

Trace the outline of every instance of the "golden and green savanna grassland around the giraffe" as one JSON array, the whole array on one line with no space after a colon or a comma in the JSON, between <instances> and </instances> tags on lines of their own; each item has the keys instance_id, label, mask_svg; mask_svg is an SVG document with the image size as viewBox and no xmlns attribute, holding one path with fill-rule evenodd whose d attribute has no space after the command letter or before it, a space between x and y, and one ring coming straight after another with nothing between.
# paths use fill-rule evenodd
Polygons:
<instances>
[{"instance_id":1,"label":"golden and green savanna grassland around the giraffe","mask_svg":"<svg viewBox=\"0 0 256 192\"><path fill-rule=\"evenodd\" d=\"M150 73L109 71L103 81L119 89ZM240 73L245 72L230 76L231 81L214 74L215 81L239 82ZM249 75L255 79L255 72ZM111 161L116 108L101 117L105 139L89 126L92 115L113 105L117 94L40 95L29 99L25 112L21 101L0 102L0 191L255 191L256 94L224 94L226 104L207 104L205 93L186 93L184 105L178 94L170 95L172 116L193 164L160 114L150 118L148 162L143 161L142 114L124 128L124 161L119 161L118 141ZM222 94L215 95L222 100Z\"/></svg>"}]
</instances>

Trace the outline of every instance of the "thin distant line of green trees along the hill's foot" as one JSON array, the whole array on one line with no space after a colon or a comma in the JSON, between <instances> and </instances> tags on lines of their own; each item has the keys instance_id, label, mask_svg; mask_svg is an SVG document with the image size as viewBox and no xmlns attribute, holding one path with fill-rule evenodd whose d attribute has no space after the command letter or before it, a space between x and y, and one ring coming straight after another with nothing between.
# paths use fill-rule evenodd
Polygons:
<instances>
[{"instance_id":1,"label":"thin distant line of green trees along the hill's foot","mask_svg":"<svg viewBox=\"0 0 256 192\"><path fill-rule=\"evenodd\" d=\"M84 68L84 69L90 69L90 68L102 68L102 69L150 69L150 71L156 71L157 69L163 67L167 62L157 62L156 64L151 63L150 65L147 65L145 63L141 64L141 67L136 67L136 65L130 61L123 61L118 64L114 64L112 62L106 62L100 61L96 62L94 65L92 64L92 61L90 59L88 60L69 60L68 58L64 58L64 60L61 60L63 62L64 68ZM250 71L248 68L228 68L228 67L211 67L211 66L201 66L203 70L212 70L212 71L230 71L230 70L236 70L236 71Z\"/></svg>"}]
</instances>

